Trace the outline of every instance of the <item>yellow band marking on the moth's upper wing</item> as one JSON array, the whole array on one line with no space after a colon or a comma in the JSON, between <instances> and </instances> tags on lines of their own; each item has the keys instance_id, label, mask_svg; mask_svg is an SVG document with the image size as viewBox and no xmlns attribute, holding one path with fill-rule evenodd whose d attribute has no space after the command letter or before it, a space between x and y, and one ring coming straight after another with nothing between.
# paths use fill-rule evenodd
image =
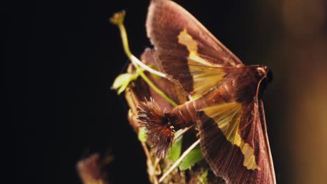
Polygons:
<instances>
[{"instance_id":1,"label":"yellow band marking on the moth's upper wing","mask_svg":"<svg viewBox=\"0 0 327 184\"><path fill-rule=\"evenodd\" d=\"M194 95L203 95L217 86L224 77L224 70L212 68L212 63L198 56L198 43L192 38L186 29L178 35L178 43L185 45L189 51L188 66L194 81Z\"/></svg>"}]
</instances>

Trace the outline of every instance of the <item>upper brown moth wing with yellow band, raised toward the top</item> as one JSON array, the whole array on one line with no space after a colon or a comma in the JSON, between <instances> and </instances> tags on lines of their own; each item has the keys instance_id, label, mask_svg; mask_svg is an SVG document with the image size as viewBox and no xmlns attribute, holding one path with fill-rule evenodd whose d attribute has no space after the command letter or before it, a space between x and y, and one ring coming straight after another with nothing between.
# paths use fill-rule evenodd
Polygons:
<instances>
[{"instance_id":1,"label":"upper brown moth wing with yellow band, raised toward the top","mask_svg":"<svg viewBox=\"0 0 327 184\"><path fill-rule=\"evenodd\" d=\"M147 36L154 45L155 59L161 70L180 84L187 93L203 93L211 84L198 82L194 72L214 78L206 68L243 66L231 51L212 36L187 10L173 1L152 0L147 14ZM201 72L200 72L201 70ZM216 73L221 73L217 69ZM219 82L219 77L215 79ZM203 86L205 85L205 86Z\"/></svg>"}]
</instances>

